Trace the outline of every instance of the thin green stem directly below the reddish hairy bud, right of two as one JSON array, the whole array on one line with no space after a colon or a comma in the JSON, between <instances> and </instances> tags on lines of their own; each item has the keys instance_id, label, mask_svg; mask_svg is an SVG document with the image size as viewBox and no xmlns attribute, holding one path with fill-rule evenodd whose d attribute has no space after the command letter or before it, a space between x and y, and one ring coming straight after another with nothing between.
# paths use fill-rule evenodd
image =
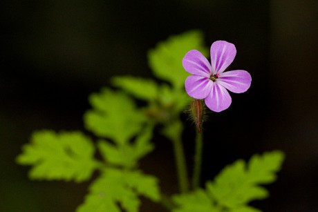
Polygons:
<instances>
[{"instance_id":1,"label":"thin green stem directly below the reddish hairy bud, right of two","mask_svg":"<svg viewBox=\"0 0 318 212\"><path fill-rule=\"evenodd\" d=\"M196 152L194 155L194 173L192 178L192 189L196 190L200 186L200 173L202 164L202 147L203 147L203 135L196 132Z\"/></svg>"}]
</instances>

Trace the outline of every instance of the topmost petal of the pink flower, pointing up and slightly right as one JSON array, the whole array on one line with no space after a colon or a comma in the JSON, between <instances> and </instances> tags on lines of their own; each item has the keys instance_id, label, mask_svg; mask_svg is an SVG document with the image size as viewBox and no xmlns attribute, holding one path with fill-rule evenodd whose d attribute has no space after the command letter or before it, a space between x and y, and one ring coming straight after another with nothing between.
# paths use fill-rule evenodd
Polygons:
<instances>
[{"instance_id":1,"label":"topmost petal of the pink flower, pointing up and slightly right","mask_svg":"<svg viewBox=\"0 0 318 212\"><path fill-rule=\"evenodd\" d=\"M227 41L215 41L210 50L212 73L223 73L223 71L232 64L236 55L234 44Z\"/></svg>"}]
</instances>

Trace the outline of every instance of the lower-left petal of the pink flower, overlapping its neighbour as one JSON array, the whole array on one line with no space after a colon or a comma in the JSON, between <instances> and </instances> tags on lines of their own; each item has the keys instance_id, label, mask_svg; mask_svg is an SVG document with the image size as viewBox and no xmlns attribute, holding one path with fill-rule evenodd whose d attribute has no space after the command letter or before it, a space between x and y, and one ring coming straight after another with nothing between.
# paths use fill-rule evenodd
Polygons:
<instances>
[{"instance_id":1,"label":"lower-left petal of the pink flower, overlapping its neighbour","mask_svg":"<svg viewBox=\"0 0 318 212\"><path fill-rule=\"evenodd\" d=\"M209 95L213 82L207 77L191 75L185 79L185 90L190 97L204 99Z\"/></svg>"}]
</instances>

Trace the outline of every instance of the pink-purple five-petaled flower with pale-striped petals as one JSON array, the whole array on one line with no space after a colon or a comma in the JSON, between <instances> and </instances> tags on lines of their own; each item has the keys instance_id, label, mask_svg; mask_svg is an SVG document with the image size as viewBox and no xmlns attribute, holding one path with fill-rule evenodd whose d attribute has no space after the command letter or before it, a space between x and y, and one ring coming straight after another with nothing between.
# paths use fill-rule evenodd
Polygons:
<instances>
[{"instance_id":1,"label":"pink-purple five-petaled flower with pale-striped petals","mask_svg":"<svg viewBox=\"0 0 318 212\"><path fill-rule=\"evenodd\" d=\"M221 112L232 102L227 90L233 93L245 92L250 88L252 77L245 70L224 72L236 55L234 44L215 41L210 54L211 64L198 50L187 52L183 58L183 67L192 75L185 80L185 90L190 97L205 99L210 110Z\"/></svg>"}]
</instances>

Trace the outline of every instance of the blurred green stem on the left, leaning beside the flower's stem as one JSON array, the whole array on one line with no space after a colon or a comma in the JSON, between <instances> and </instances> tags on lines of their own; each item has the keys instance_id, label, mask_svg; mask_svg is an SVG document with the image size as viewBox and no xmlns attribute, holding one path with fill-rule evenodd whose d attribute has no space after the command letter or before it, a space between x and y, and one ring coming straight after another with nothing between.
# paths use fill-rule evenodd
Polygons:
<instances>
[{"instance_id":1,"label":"blurred green stem on the left, leaning beside the flower's stem","mask_svg":"<svg viewBox=\"0 0 318 212\"><path fill-rule=\"evenodd\" d=\"M174 144L174 155L176 157L179 188L181 193L186 193L187 191L189 191L189 181L187 178L187 166L185 164L185 153L183 152L183 144L178 136L173 139L172 143Z\"/></svg>"}]
</instances>

